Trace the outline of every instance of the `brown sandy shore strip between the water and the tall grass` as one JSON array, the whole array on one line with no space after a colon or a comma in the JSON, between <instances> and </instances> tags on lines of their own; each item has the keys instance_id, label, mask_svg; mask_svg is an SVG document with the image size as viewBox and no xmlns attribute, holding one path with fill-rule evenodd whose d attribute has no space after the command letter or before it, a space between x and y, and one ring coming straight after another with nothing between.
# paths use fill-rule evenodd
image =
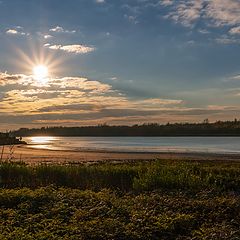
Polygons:
<instances>
[{"instance_id":1,"label":"brown sandy shore strip between the water and the tall grass","mask_svg":"<svg viewBox=\"0 0 240 240\"><path fill-rule=\"evenodd\" d=\"M0 147L2 149L2 147ZM1 150L0 150L1 152ZM8 146L4 147L3 160L10 154ZM173 160L219 160L239 161L240 155L236 154L211 154L211 153L118 153L118 152L72 152L33 149L25 145L15 146L13 159L22 160L27 164L39 163L88 163L88 162L115 162L115 161L137 161L154 159Z\"/></svg>"}]
</instances>

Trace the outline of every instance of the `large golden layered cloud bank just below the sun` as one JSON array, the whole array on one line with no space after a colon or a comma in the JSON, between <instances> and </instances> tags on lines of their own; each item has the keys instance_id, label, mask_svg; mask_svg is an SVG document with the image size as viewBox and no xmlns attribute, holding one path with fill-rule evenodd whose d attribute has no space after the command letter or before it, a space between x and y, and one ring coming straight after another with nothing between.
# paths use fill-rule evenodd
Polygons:
<instances>
[{"instance_id":1,"label":"large golden layered cloud bank just below the sun","mask_svg":"<svg viewBox=\"0 0 240 240\"><path fill-rule=\"evenodd\" d=\"M50 78L0 73L0 124L23 126L189 121L233 113L237 107L187 107L181 99L131 99L110 84L84 77Z\"/></svg>"}]
</instances>

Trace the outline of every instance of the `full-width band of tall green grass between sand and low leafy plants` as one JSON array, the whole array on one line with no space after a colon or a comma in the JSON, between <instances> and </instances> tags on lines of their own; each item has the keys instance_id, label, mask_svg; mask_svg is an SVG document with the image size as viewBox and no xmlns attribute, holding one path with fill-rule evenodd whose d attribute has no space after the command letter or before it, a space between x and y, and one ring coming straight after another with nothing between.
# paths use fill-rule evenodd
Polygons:
<instances>
[{"instance_id":1,"label":"full-width band of tall green grass between sand and low leafy plants","mask_svg":"<svg viewBox=\"0 0 240 240\"><path fill-rule=\"evenodd\" d=\"M157 189L240 192L240 163L153 161L148 163L87 165L0 165L3 188L37 188L54 185L99 191L123 192Z\"/></svg>"}]
</instances>

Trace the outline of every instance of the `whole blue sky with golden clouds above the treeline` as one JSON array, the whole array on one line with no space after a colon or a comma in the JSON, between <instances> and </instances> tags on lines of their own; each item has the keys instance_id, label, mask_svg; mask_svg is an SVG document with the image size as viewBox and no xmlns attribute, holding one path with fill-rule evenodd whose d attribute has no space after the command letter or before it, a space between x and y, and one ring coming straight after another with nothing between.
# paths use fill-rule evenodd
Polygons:
<instances>
[{"instance_id":1,"label":"whole blue sky with golden clouds above the treeline","mask_svg":"<svg viewBox=\"0 0 240 240\"><path fill-rule=\"evenodd\" d=\"M239 116L239 0L0 1L0 130Z\"/></svg>"}]
</instances>

